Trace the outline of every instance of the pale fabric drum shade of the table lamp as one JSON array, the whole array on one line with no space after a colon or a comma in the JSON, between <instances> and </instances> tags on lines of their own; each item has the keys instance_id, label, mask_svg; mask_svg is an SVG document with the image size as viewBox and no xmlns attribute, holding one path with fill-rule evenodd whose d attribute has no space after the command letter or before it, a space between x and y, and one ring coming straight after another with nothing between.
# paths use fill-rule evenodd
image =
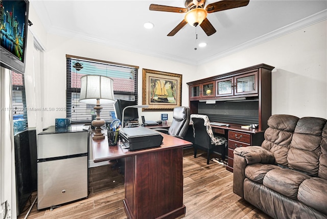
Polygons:
<instances>
[{"instance_id":1,"label":"pale fabric drum shade of the table lamp","mask_svg":"<svg viewBox=\"0 0 327 219\"><path fill-rule=\"evenodd\" d=\"M87 104L114 103L113 80L106 76L85 75L81 77L81 92L79 101Z\"/></svg>"}]
</instances>

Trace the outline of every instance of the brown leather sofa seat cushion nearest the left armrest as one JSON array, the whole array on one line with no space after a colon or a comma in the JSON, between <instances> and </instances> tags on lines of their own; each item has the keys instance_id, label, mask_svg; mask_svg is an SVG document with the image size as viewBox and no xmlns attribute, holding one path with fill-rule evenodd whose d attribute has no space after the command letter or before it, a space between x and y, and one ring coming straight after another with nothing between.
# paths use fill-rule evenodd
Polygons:
<instances>
[{"instance_id":1,"label":"brown leather sofa seat cushion nearest the left armrest","mask_svg":"<svg viewBox=\"0 0 327 219\"><path fill-rule=\"evenodd\" d=\"M245 167L245 177L262 184L266 173L272 169L280 169L281 167L273 164L255 163Z\"/></svg>"}]
</instances>

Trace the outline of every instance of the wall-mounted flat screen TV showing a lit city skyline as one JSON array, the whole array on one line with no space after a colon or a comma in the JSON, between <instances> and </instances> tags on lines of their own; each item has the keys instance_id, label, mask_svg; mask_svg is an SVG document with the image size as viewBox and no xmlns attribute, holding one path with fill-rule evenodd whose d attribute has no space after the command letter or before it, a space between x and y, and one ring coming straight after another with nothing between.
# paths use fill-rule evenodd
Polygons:
<instances>
[{"instance_id":1,"label":"wall-mounted flat screen TV showing a lit city skyline","mask_svg":"<svg viewBox=\"0 0 327 219\"><path fill-rule=\"evenodd\" d=\"M17 73L25 72L28 14L28 0L0 0L1 66Z\"/></svg>"}]
</instances>

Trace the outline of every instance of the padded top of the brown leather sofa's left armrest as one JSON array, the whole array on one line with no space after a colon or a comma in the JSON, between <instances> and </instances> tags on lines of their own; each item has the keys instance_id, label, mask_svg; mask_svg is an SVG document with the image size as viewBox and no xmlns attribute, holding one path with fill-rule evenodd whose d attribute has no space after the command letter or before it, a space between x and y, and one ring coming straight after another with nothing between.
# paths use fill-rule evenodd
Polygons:
<instances>
[{"instance_id":1,"label":"padded top of the brown leather sofa's left armrest","mask_svg":"<svg viewBox=\"0 0 327 219\"><path fill-rule=\"evenodd\" d=\"M272 152L261 146L238 147L235 148L234 155L245 158L247 164L273 164L275 162Z\"/></svg>"}]
</instances>

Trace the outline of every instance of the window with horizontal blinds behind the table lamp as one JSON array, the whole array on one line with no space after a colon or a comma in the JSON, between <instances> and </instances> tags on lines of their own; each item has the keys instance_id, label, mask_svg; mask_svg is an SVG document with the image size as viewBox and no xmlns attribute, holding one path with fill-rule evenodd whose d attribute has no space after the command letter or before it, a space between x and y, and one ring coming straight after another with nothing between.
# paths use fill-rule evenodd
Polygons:
<instances>
[{"instance_id":1,"label":"window with horizontal blinds behind the table lamp","mask_svg":"<svg viewBox=\"0 0 327 219\"><path fill-rule=\"evenodd\" d=\"M113 79L115 99L137 101L138 67L66 55L66 117L72 122L90 122L96 115L94 105L79 102L81 77L103 75ZM106 122L115 118L113 104L101 105L101 118Z\"/></svg>"}]
</instances>

